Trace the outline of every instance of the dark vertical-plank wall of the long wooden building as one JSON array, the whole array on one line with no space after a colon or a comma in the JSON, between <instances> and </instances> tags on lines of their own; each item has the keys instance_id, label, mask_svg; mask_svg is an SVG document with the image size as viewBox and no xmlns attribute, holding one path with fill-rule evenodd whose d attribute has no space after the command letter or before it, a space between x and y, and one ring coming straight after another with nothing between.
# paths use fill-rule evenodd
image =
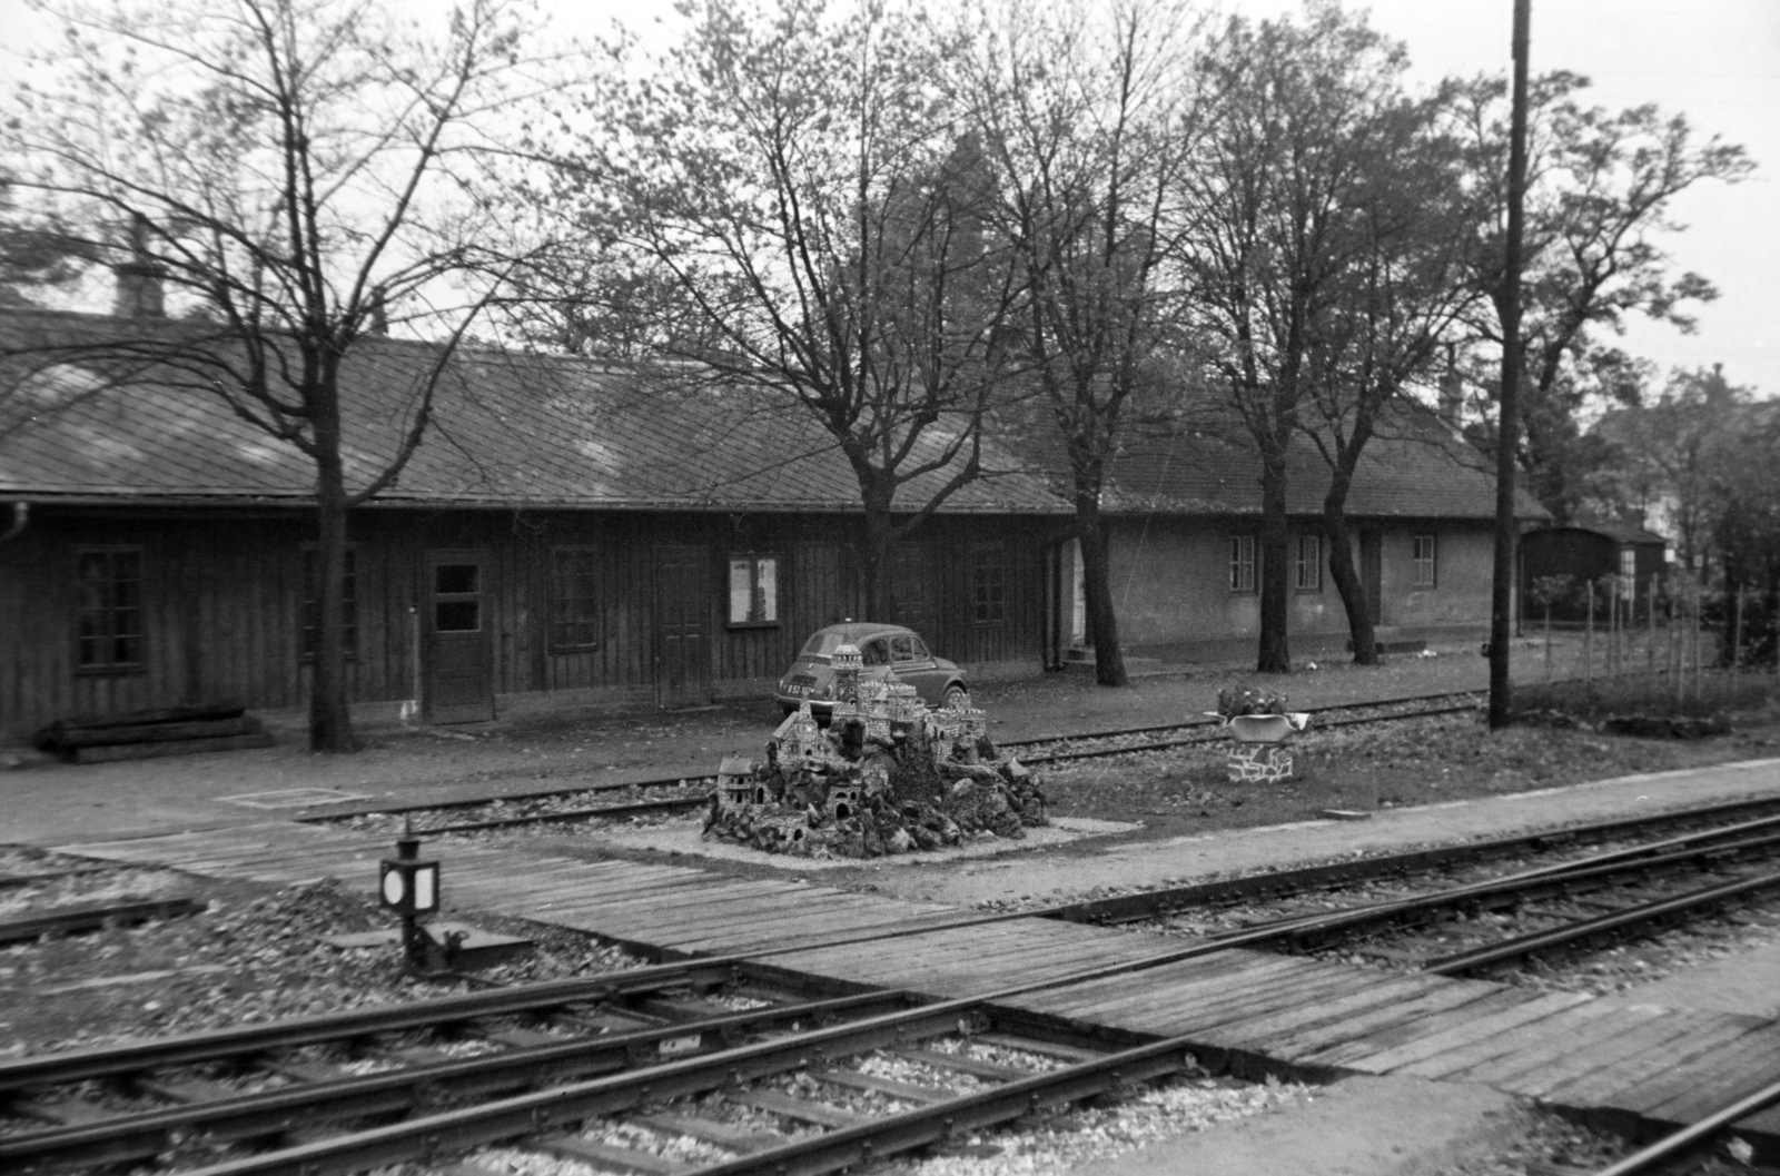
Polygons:
<instances>
[{"instance_id":1,"label":"dark vertical-plank wall of the long wooden building","mask_svg":"<svg viewBox=\"0 0 1780 1176\"><path fill-rule=\"evenodd\" d=\"M1041 548L1050 520L942 518L915 537L927 550L933 624L942 656L965 664L1041 658ZM822 624L862 617L858 534L847 516L591 514L365 509L351 521L356 559L354 701L413 697L418 568L429 550L486 553L498 694L637 689L653 681L653 548L707 544L712 676L776 678ZM1007 623L972 619L968 544L993 537L1007 552ZM41 509L30 530L0 548L0 738L23 738L57 717L174 703L239 699L292 708L308 699L301 658L301 512L146 511L101 514ZM146 658L141 673L77 674L75 552L142 548ZM591 651L550 649L552 550L598 552L602 640ZM778 626L728 628L728 555L780 557Z\"/></svg>"}]
</instances>

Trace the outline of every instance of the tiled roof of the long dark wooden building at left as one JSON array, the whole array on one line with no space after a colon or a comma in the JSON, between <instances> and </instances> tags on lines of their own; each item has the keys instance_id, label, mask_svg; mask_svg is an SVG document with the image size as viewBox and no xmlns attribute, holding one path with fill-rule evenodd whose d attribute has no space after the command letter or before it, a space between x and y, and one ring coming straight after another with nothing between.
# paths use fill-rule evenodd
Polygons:
<instances>
[{"instance_id":1,"label":"tiled roof of the long dark wooden building at left","mask_svg":"<svg viewBox=\"0 0 1780 1176\"><path fill-rule=\"evenodd\" d=\"M4 313L0 352L107 324L142 329L84 315ZM363 486L395 452L436 356L429 343L368 338L342 365L349 484ZM167 372L107 388L64 365L9 383L0 372L0 495L313 500L306 455ZM984 464L1011 466L995 454ZM899 502L922 502L940 477L904 487ZM377 502L856 511L860 489L808 411L762 390L721 386L692 368L644 372L463 349L438 384L434 425ZM1020 471L965 486L943 509L1068 512L1041 479Z\"/></svg>"}]
</instances>

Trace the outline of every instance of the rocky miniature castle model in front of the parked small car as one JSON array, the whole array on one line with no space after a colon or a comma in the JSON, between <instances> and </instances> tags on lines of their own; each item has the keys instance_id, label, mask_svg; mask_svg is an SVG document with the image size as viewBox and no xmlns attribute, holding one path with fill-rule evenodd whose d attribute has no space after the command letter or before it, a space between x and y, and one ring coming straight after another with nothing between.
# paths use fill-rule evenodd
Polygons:
<instances>
[{"instance_id":1,"label":"rocky miniature castle model in front of the parked small car","mask_svg":"<svg viewBox=\"0 0 1780 1176\"><path fill-rule=\"evenodd\" d=\"M1048 824L1038 779L1002 758L988 715L956 696L929 710L894 674L862 678L840 646L828 729L805 701L767 742L764 763L724 756L707 838L767 852L870 858L967 838L1024 836Z\"/></svg>"}]
</instances>

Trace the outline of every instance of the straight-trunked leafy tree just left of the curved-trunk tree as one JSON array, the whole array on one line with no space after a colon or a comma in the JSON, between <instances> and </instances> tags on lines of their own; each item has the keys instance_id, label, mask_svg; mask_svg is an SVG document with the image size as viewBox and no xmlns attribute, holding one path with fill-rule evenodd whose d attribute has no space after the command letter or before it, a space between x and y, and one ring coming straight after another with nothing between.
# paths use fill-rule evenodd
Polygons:
<instances>
[{"instance_id":1,"label":"straight-trunked leafy tree just left of the curved-trunk tree","mask_svg":"<svg viewBox=\"0 0 1780 1176\"><path fill-rule=\"evenodd\" d=\"M1388 269L1371 201L1390 183L1381 158L1396 158L1388 144L1408 126L1403 50L1363 18L1312 4L1301 21L1232 20L1200 69L1218 114L1180 185L1180 256L1214 384L1260 454L1257 667L1290 673L1287 452L1308 427L1324 366L1337 350L1337 368L1376 358L1390 313L1381 286L1374 311L1344 299ZM1337 349L1330 333L1340 322L1355 342ZM1333 390L1342 375L1328 375L1321 386ZM1355 438L1363 445L1349 431L1331 455Z\"/></svg>"}]
</instances>

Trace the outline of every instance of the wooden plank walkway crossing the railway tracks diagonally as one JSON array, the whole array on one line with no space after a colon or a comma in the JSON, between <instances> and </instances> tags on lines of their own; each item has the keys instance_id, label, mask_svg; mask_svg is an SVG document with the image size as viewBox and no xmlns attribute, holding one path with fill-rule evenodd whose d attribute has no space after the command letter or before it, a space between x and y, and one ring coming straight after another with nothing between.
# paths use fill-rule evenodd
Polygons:
<instances>
[{"instance_id":1,"label":"wooden plank walkway crossing the railway tracks diagonally","mask_svg":"<svg viewBox=\"0 0 1780 1176\"><path fill-rule=\"evenodd\" d=\"M361 881L390 845L365 833L263 822L61 847L107 861L260 882ZM675 955L776 952L773 971L934 998L990 995L1143 964L1184 945L1130 930L1011 918L687 865L575 861L523 847L436 842L441 891L463 913L557 923ZM879 934L822 946L835 936ZM799 946L808 943L808 946ZM1000 1000L1009 1011L1121 1039L1189 1037L1239 1073L1410 1075L1488 1083L1652 1135L1693 1123L1780 1071L1780 1023L1226 950ZM1780 1110L1741 1130L1780 1144Z\"/></svg>"}]
</instances>

